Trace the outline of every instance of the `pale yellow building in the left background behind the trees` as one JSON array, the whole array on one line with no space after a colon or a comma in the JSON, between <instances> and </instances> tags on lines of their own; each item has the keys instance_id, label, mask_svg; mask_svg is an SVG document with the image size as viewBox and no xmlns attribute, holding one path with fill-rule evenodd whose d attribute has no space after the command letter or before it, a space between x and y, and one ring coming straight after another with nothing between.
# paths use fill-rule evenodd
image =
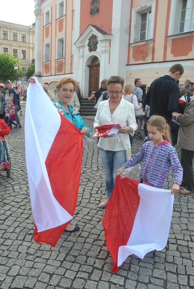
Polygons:
<instances>
[{"instance_id":1,"label":"pale yellow building in the left background behind the trees","mask_svg":"<svg viewBox=\"0 0 194 289\"><path fill-rule=\"evenodd\" d=\"M0 21L0 53L6 52L20 59L25 75L35 63L35 27Z\"/></svg>"}]
</instances>

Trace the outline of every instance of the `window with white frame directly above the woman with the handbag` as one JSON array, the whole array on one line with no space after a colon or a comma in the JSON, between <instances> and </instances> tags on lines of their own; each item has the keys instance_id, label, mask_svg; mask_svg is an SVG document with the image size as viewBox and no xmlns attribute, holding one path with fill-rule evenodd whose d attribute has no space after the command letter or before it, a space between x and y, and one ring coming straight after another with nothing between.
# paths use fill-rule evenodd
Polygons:
<instances>
[{"instance_id":1,"label":"window with white frame directly above the woman with the handbag","mask_svg":"<svg viewBox=\"0 0 194 289\"><path fill-rule=\"evenodd\" d=\"M150 37L151 11L141 14L139 41Z\"/></svg>"}]
</instances>

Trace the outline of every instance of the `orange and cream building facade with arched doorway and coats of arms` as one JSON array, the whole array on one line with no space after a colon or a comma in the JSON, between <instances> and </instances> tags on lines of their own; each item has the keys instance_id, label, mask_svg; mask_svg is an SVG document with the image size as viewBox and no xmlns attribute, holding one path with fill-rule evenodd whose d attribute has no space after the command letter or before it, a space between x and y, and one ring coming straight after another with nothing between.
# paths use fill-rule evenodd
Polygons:
<instances>
[{"instance_id":1,"label":"orange and cream building facade with arched doorway and coats of arms","mask_svg":"<svg viewBox=\"0 0 194 289\"><path fill-rule=\"evenodd\" d=\"M145 89L175 63L194 80L194 0L35 0L35 16L43 83L73 77L88 97L119 75Z\"/></svg>"}]
</instances>

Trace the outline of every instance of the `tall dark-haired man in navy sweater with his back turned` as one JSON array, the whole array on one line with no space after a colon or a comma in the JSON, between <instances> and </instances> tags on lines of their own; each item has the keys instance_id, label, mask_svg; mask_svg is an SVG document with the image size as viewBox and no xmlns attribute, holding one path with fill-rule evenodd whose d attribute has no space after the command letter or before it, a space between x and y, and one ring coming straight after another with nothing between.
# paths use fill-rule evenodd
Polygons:
<instances>
[{"instance_id":1,"label":"tall dark-haired man in navy sweater with his back turned","mask_svg":"<svg viewBox=\"0 0 194 289\"><path fill-rule=\"evenodd\" d=\"M143 100L145 105L150 106L149 116L161 115L170 124L172 112L179 104L179 86L176 81L183 72L184 69L181 64L174 64L170 67L167 75L152 82Z\"/></svg>"}]
</instances>

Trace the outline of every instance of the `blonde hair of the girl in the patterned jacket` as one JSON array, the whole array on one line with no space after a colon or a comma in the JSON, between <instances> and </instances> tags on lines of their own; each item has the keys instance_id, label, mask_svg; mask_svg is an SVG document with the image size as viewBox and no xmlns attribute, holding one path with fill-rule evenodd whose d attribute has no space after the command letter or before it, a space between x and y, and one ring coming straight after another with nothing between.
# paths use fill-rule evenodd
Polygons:
<instances>
[{"instance_id":1,"label":"blonde hair of the girl in the patterned jacket","mask_svg":"<svg viewBox=\"0 0 194 289\"><path fill-rule=\"evenodd\" d=\"M170 144L172 144L169 125L163 116L152 115L149 120L147 120L146 124L150 126L156 126L160 132L165 130L166 132L164 135L162 135L162 137L165 141L168 141Z\"/></svg>"}]
</instances>

